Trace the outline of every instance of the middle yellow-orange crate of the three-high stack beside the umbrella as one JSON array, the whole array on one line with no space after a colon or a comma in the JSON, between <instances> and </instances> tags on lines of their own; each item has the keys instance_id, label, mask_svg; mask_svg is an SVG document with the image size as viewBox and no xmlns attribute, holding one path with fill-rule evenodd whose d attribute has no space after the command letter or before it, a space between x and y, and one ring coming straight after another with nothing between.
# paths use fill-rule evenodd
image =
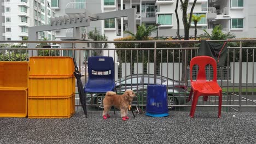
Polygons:
<instances>
[{"instance_id":1,"label":"middle yellow-orange crate of the three-high stack beside the umbrella","mask_svg":"<svg viewBox=\"0 0 256 144\"><path fill-rule=\"evenodd\" d=\"M28 96L55 97L75 93L75 78L30 78Z\"/></svg>"}]
</instances>

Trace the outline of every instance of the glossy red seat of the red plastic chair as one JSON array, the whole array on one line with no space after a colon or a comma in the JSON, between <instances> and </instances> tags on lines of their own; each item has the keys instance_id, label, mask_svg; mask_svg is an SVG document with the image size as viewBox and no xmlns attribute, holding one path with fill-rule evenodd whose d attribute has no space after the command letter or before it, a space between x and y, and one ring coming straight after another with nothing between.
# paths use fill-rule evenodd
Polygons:
<instances>
[{"instance_id":1,"label":"glossy red seat of the red plastic chair","mask_svg":"<svg viewBox=\"0 0 256 144\"><path fill-rule=\"evenodd\" d=\"M191 87L194 91L198 91L202 95L218 95L222 90L218 83L214 81L193 81L191 82Z\"/></svg>"}]
</instances>

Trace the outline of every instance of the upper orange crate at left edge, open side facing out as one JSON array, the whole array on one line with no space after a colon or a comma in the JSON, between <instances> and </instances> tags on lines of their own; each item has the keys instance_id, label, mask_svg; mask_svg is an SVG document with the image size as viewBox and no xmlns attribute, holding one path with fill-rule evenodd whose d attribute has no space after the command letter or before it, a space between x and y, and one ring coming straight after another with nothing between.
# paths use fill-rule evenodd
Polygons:
<instances>
[{"instance_id":1,"label":"upper orange crate at left edge, open side facing out","mask_svg":"<svg viewBox=\"0 0 256 144\"><path fill-rule=\"evenodd\" d=\"M28 62L0 62L0 87L28 88Z\"/></svg>"}]
</instances>

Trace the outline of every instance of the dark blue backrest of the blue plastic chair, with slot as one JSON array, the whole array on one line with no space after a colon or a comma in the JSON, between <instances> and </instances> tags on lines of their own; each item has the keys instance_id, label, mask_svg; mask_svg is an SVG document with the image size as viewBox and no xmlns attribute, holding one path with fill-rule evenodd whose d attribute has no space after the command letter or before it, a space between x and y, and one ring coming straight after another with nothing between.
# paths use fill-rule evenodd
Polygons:
<instances>
[{"instance_id":1,"label":"dark blue backrest of the blue plastic chair, with slot","mask_svg":"<svg viewBox=\"0 0 256 144\"><path fill-rule=\"evenodd\" d=\"M96 71L92 73L92 71ZM102 73L98 73L97 71L104 71L104 75ZM89 79L114 79L114 61L112 57L89 57L88 58L88 74Z\"/></svg>"}]
</instances>

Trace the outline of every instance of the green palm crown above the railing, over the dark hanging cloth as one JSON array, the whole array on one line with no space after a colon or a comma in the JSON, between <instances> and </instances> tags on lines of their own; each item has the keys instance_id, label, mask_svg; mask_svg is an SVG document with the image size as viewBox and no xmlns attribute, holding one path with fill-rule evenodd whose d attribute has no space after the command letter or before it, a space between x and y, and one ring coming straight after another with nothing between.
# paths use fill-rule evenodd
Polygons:
<instances>
[{"instance_id":1,"label":"green palm crown above the railing, over the dark hanging cloth","mask_svg":"<svg viewBox=\"0 0 256 144\"><path fill-rule=\"evenodd\" d=\"M236 37L235 34L232 34L231 32L223 33L221 25L215 26L211 34L208 33L205 29L203 29L203 31L205 33L200 35L200 37L203 39L222 40L222 39L233 39Z\"/></svg>"}]
</instances>

